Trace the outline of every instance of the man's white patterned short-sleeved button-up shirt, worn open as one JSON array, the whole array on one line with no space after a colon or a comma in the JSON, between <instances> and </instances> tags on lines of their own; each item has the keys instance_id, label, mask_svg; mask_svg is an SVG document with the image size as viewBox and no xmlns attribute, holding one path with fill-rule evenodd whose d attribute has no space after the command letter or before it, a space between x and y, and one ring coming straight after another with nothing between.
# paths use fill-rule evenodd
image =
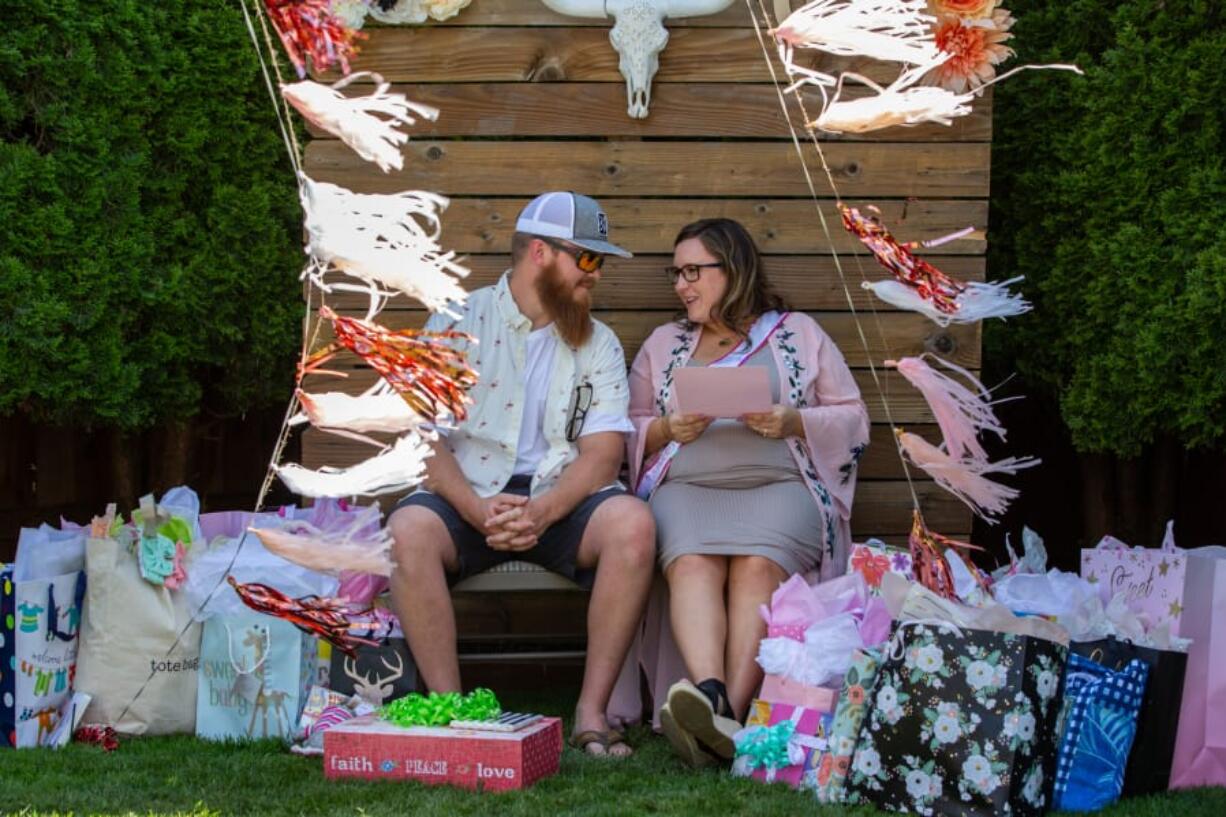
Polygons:
<instances>
[{"instance_id":1,"label":"man's white patterned short-sleeved button-up shirt, worn open","mask_svg":"<svg viewBox=\"0 0 1226 817\"><path fill-rule=\"evenodd\" d=\"M479 379L470 391L473 405L468 417L447 434L447 445L477 496L492 497L503 489L515 467L532 321L511 297L510 272L494 286L471 292L467 304L456 310L462 315L459 321L435 314L425 325L430 331L455 329L478 340L471 345L456 342L457 348L467 352ZM548 450L532 475L532 496L553 487L579 456L579 445L568 439L568 429L576 439L602 431L633 431L622 343L608 326L598 320L592 323L592 336L582 347L573 348L560 337L554 343L542 429Z\"/></svg>"}]
</instances>

